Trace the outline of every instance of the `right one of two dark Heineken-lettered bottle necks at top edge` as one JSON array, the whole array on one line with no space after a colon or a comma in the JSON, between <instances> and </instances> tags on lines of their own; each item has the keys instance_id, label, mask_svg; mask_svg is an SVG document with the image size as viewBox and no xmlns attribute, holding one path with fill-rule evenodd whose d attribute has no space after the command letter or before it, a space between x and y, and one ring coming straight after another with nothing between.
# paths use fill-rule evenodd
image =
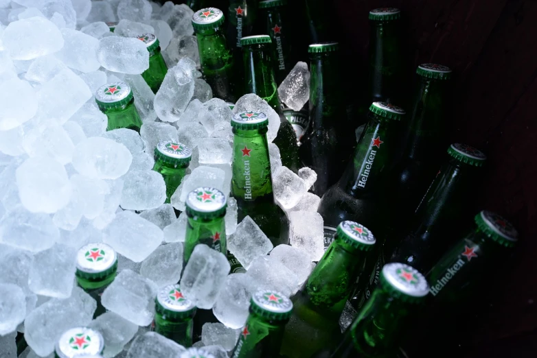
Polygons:
<instances>
[{"instance_id":1,"label":"right one of two dark Heineken-lettered bottle necks at top edge","mask_svg":"<svg viewBox=\"0 0 537 358\"><path fill-rule=\"evenodd\" d=\"M281 84L293 68L291 62L291 42L286 37L289 29L286 25L284 14L286 13L287 0L265 0L259 2L259 8L263 12L265 28L264 34L269 34L274 46L276 61L274 71L277 84Z\"/></svg>"}]
</instances>

